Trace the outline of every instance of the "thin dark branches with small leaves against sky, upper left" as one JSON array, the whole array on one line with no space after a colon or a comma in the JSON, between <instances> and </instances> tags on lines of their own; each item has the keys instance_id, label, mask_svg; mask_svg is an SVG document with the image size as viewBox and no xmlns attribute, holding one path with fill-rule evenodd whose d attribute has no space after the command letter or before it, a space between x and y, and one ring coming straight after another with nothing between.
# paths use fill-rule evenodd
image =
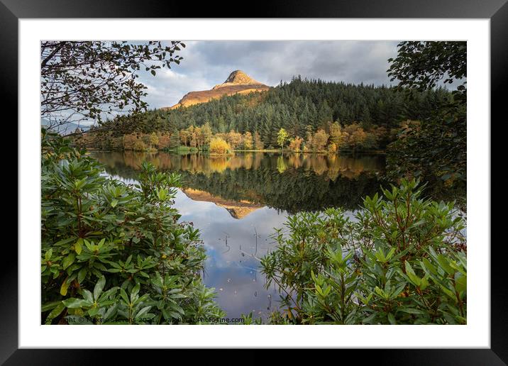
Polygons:
<instances>
[{"instance_id":1,"label":"thin dark branches with small leaves against sky, upper left","mask_svg":"<svg viewBox=\"0 0 508 366\"><path fill-rule=\"evenodd\" d=\"M146 111L140 70L180 64L180 41L43 41L40 45L41 118L53 126Z\"/></svg>"}]
</instances>

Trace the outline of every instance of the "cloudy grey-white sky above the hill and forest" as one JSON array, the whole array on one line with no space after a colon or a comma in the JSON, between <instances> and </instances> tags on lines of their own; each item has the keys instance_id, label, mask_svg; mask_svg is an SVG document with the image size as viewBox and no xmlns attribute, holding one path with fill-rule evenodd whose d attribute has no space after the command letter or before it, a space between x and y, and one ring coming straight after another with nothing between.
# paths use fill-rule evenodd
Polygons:
<instances>
[{"instance_id":1,"label":"cloudy grey-white sky above the hill and forest","mask_svg":"<svg viewBox=\"0 0 508 366\"><path fill-rule=\"evenodd\" d=\"M223 83L233 70L275 86L293 75L364 84L390 84L387 59L397 41L184 41L180 65L153 77L140 74L150 109L176 104L189 91Z\"/></svg>"}]
</instances>

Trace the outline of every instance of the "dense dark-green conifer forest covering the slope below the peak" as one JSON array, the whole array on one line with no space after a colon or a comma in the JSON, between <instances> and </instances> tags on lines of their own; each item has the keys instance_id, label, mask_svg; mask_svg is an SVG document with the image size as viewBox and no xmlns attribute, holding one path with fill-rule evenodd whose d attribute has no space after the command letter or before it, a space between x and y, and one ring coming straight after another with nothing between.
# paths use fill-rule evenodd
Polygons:
<instances>
[{"instance_id":1,"label":"dense dark-green conifer forest covering the slope below the peak","mask_svg":"<svg viewBox=\"0 0 508 366\"><path fill-rule=\"evenodd\" d=\"M377 130L379 148L388 133L405 120L424 120L431 111L451 99L446 89L413 91L412 97L394 87L324 82L294 77L264 93L236 94L207 103L173 110L153 110L136 117L106 121L104 127L125 133L173 133L209 123L212 133L258 133L265 148L277 147L277 133L284 128L289 139L306 138L320 129L330 132L331 122L352 124L365 131ZM121 122L121 123L118 123ZM384 135L384 136L382 136Z\"/></svg>"}]
</instances>

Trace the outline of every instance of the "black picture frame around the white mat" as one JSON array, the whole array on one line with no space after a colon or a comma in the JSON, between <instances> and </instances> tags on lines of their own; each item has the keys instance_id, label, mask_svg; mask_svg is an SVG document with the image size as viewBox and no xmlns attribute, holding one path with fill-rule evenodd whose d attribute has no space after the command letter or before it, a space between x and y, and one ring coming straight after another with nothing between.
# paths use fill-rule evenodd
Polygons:
<instances>
[{"instance_id":1,"label":"black picture frame around the white mat","mask_svg":"<svg viewBox=\"0 0 508 366\"><path fill-rule=\"evenodd\" d=\"M240 4L221 2L196 3L133 0L0 0L0 101L3 111L11 112L17 121L18 105L18 20L20 18L488 18L491 52L491 119L502 121L502 89L508 81L508 0L336 0L311 2L256 2L249 11ZM228 9L228 11L224 10ZM503 116L504 119L506 118ZM7 121L4 121L7 122ZM13 125L12 122L11 126ZM485 123L490 128L490 121ZM17 128L11 133L18 135ZM491 165L492 167L492 165ZM14 168L17 170L17 167ZM495 187L492 182L491 187ZM499 183L497 183L499 184ZM13 182L11 182L11 186ZM21 192L18 192L18 195ZM485 213L490 214L490 213ZM19 220L23 220L22 217ZM485 243L486 248L490 243ZM18 350L18 250L15 245L2 246L0 277L0 364L5 365L90 365L104 355L90 350ZM504 275L504 243L491 245L491 348L490 349L419 349L419 350L340 350L373 357L389 365L505 365L508 363L508 306ZM103 351L104 352L104 351ZM128 350L114 352L117 364L133 359ZM150 359L165 351L153 351ZM174 350L170 352L175 352ZM239 362L253 359L246 351ZM139 354L139 351L137 351ZM214 358L214 353L209 354ZM341 356L343 357L343 356ZM343 359L344 360L344 359ZM128 362L128 363L131 363Z\"/></svg>"}]
</instances>

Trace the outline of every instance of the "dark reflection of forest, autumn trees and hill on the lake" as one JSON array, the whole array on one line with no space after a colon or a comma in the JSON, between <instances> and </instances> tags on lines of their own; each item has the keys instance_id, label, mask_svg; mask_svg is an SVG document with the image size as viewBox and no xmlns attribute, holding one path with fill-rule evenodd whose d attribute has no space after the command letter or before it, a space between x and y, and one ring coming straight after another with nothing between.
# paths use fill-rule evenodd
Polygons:
<instances>
[{"instance_id":1,"label":"dark reflection of forest, autumn trees and hill on the lake","mask_svg":"<svg viewBox=\"0 0 508 366\"><path fill-rule=\"evenodd\" d=\"M234 157L168 153L96 152L106 170L136 177L143 161L182 175L184 193L242 218L264 206L294 213L340 206L355 209L380 187L382 155L338 156L248 153Z\"/></svg>"}]
</instances>

